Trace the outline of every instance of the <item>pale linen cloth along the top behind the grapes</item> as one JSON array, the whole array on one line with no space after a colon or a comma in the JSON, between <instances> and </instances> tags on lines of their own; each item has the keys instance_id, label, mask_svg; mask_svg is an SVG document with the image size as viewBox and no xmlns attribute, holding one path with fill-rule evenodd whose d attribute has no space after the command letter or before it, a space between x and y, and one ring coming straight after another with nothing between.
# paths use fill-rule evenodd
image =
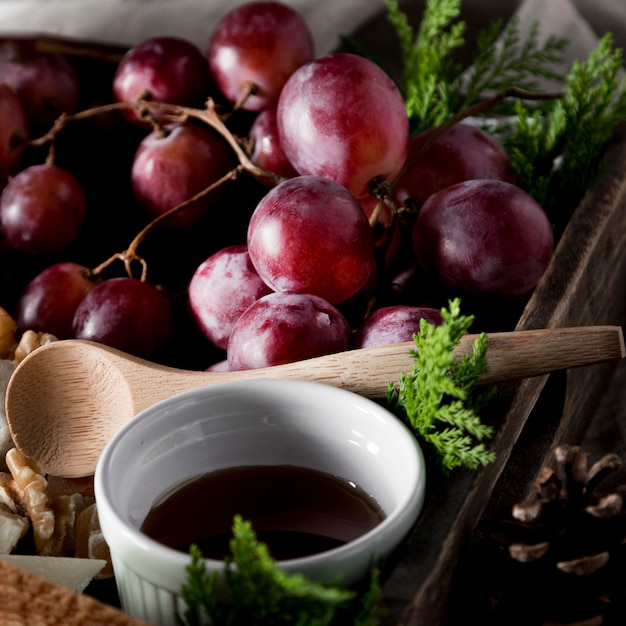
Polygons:
<instances>
[{"instance_id":1,"label":"pale linen cloth along the top behind the grapes","mask_svg":"<svg viewBox=\"0 0 626 626\"><path fill-rule=\"evenodd\" d=\"M155 35L179 35L206 48L215 23L247 0L0 0L0 33L47 33L132 45ZM340 34L352 34L383 15L383 0L284 0L309 24L318 55L331 52ZM407 0L400 6L423 5ZM565 36L571 58L587 55L611 31L626 47L626 0L463 0L463 10L484 16L520 17L541 24L541 36Z\"/></svg>"}]
</instances>

